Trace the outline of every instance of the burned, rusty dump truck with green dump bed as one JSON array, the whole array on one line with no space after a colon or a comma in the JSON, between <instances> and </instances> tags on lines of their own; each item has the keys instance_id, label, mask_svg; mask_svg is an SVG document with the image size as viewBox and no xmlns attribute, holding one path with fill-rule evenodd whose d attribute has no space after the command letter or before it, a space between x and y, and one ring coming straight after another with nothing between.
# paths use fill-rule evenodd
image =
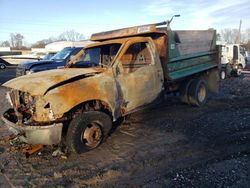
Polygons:
<instances>
[{"instance_id":1,"label":"burned, rusty dump truck with green dump bed","mask_svg":"<svg viewBox=\"0 0 250 188\"><path fill-rule=\"evenodd\" d=\"M164 27L164 24L168 27ZM193 106L218 90L216 31L172 31L169 22L96 33L64 69L8 81L2 119L30 144L82 153L99 146L113 122L179 93Z\"/></svg>"}]
</instances>

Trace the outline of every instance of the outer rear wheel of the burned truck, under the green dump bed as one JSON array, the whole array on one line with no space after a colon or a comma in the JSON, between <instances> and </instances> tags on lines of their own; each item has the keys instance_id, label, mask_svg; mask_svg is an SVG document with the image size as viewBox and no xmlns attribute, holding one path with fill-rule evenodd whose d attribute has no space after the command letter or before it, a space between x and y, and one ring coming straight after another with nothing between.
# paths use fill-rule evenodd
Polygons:
<instances>
[{"instance_id":1,"label":"outer rear wheel of the burned truck, under the green dump bed","mask_svg":"<svg viewBox=\"0 0 250 188\"><path fill-rule=\"evenodd\" d=\"M195 79L188 88L188 101L193 106L202 106L207 102L207 83L202 79Z\"/></svg>"}]
</instances>

